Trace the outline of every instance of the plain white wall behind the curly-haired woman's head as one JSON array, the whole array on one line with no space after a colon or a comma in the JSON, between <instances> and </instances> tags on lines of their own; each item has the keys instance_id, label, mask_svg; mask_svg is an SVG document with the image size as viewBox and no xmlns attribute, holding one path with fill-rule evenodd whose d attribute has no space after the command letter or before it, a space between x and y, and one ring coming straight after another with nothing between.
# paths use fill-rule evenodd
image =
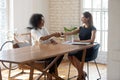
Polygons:
<instances>
[{"instance_id":1,"label":"plain white wall behind the curly-haired woman's head","mask_svg":"<svg viewBox=\"0 0 120 80\"><path fill-rule=\"evenodd\" d=\"M14 28L17 29L18 33L26 32L29 18L33 13L42 13L45 16L45 25L49 25L48 0L14 0L13 4Z\"/></svg>"}]
</instances>

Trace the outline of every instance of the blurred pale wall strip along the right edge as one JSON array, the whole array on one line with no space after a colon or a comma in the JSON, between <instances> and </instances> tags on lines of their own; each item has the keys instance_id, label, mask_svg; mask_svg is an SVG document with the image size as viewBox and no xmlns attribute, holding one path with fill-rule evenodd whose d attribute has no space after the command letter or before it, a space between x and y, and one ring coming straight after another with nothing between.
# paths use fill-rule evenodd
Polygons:
<instances>
[{"instance_id":1,"label":"blurred pale wall strip along the right edge","mask_svg":"<svg viewBox=\"0 0 120 80\"><path fill-rule=\"evenodd\" d=\"M120 80L120 0L109 0L108 79Z\"/></svg>"}]
</instances>

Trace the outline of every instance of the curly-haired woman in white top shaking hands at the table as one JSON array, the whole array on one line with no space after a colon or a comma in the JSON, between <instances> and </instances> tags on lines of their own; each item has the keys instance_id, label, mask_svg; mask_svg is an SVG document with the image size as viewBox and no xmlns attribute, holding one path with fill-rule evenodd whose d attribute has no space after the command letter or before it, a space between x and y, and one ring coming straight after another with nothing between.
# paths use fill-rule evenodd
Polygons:
<instances>
[{"instance_id":1,"label":"curly-haired woman in white top shaking hands at the table","mask_svg":"<svg viewBox=\"0 0 120 80\"><path fill-rule=\"evenodd\" d=\"M32 45L35 45L36 42L40 42L43 44L47 43L53 43L57 44L55 40L52 39L52 37L60 37L60 33L53 33L49 34L47 29L44 27L44 17L42 14L33 14L32 17L30 18L30 24L32 27L27 27L28 29L31 29L31 38L32 38ZM55 57L48 58L45 60L49 60L52 62ZM63 59L63 55L58 59L56 65L57 67L61 63ZM49 69L49 73L54 74L55 73L55 65L53 65ZM52 80L52 76L48 76L48 80Z\"/></svg>"}]
</instances>

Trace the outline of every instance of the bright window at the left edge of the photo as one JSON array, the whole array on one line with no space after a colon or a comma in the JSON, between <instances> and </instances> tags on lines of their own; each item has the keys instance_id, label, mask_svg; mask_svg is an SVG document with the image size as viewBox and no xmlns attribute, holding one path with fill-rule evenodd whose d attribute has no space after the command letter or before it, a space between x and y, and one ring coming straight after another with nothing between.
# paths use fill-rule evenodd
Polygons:
<instances>
[{"instance_id":1,"label":"bright window at the left edge of the photo","mask_svg":"<svg viewBox=\"0 0 120 80\"><path fill-rule=\"evenodd\" d=\"M11 0L10 0L11 1ZM0 0L0 46L11 39L13 27L9 23L10 3L9 0ZM11 20L10 20L11 21Z\"/></svg>"}]
</instances>

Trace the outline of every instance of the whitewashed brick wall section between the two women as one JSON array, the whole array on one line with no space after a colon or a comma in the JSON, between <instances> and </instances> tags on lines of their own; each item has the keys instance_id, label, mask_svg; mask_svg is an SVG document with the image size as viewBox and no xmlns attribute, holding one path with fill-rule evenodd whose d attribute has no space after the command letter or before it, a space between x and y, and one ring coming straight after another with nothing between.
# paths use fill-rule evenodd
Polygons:
<instances>
[{"instance_id":1,"label":"whitewashed brick wall section between the two women","mask_svg":"<svg viewBox=\"0 0 120 80\"><path fill-rule=\"evenodd\" d=\"M50 32L80 25L80 0L49 0Z\"/></svg>"}]
</instances>

